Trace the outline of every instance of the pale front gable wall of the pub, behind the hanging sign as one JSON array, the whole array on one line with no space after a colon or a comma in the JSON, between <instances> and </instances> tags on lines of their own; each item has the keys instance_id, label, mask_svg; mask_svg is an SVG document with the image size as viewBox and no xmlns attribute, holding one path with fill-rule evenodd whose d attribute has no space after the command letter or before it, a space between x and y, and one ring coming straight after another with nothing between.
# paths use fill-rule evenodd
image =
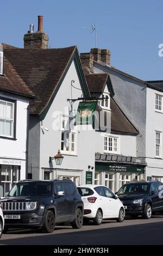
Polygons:
<instances>
[{"instance_id":1,"label":"pale front gable wall of the pub, behind the hanging sign","mask_svg":"<svg viewBox=\"0 0 163 256\"><path fill-rule=\"evenodd\" d=\"M81 88L80 81L77 75L76 67L74 62L72 62L70 69L61 84L61 87L55 96L55 99L49 108L49 111L43 120L43 127L47 127L48 131L43 134L41 131L40 138L40 168L62 168L62 169L80 169L83 173L83 183L85 182L85 171L87 166L95 165L95 131L77 131L77 154L64 155L64 160L61 166L55 164L53 160L53 165L49 163L49 156L54 156L57 154L58 149L61 148L61 130L53 130L53 114L55 111L65 113L65 107L70 108L70 103L67 99L77 99L83 94L82 90L72 88L71 95L71 80L74 80L73 86ZM73 103L73 111L77 111L79 101ZM84 126L83 126L84 127ZM88 127L88 125L87 125ZM89 126L90 127L90 126ZM77 130L79 127L77 127ZM93 170L94 171L94 170ZM68 170L67 170L68 173ZM41 175L41 172L40 172ZM94 176L94 175L93 175ZM40 177L42 179L42 177Z\"/></svg>"}]
</instances>

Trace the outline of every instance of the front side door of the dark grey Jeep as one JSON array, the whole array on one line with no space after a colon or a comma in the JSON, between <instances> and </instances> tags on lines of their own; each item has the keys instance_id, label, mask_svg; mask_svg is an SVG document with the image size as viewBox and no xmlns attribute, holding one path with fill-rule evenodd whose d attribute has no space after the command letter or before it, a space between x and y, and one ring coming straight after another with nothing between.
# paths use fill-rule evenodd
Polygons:
<instances>
[{"instance_id":1,"label":"front side door of the dark grey Jeep","mask_svg":"<svg viewBox=\"0 0 163 256\"><path fill-rule=\"evenodd\" d=\"M54 194L55 194L55 206L57 209L57 222L66 222L68 221L69 216L67 215L68 212L68 197L67 194L65 196L57 196L57 192L65 191L64 182L56 182L54 184Z\"/></svg>"}]
</instances>

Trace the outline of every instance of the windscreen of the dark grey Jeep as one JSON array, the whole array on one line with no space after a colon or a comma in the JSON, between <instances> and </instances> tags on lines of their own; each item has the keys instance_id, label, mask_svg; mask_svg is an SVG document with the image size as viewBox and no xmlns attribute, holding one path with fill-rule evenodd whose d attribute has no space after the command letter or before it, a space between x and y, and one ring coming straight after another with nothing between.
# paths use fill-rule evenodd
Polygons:
<instances>
[{"instance_id":1,"label":"windscreen of the dark grey Jeep","mask_svg":"<svg viewBox=\"0 0 163 256\"><path fill-rule=\"evenodd\" d=\"M9 197L49 196L52 193L51 182L20 182L12 187Z\"/></svg>"}]
</instances>

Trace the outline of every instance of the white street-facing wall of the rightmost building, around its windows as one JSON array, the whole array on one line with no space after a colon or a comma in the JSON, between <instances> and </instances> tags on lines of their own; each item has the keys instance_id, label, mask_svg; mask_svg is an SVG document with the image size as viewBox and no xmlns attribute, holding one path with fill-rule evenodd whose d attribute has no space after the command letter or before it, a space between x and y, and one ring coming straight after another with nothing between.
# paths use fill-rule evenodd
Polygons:
<instances>
[{"instance_id":1,"label":"white street-facing wall of the rightmost building, around its windows","mask_svg":"<svg viewBox=\"0 0 163 256\"><path fill-rule=\"evenodd\" d=\"M163 134L161 139L161 159L155 158L155 131L163 132L163 113L155 111L155 94L163 93L147 88L147 116L146 116L146 176L163 177Z\"/></svg>"}]
</instances>

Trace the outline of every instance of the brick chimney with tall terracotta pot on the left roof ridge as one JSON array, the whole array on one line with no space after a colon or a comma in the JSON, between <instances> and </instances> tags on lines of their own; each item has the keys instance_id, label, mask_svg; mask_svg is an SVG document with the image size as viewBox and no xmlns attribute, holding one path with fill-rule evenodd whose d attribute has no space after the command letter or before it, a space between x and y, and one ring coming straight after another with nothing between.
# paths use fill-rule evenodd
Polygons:
<instances>
[{"instance_id":1,"label":"brick chimney with tall terracotta pot on the left roof ridge","mask_svg":"<svg viewBox=\"0 0 163 256\"><path fill-rule=\"evenodd\" d=\"M38 30L33 32L33 25L30 25L30 31L24 35L24 48L48 48L48 34L43 32L43 16L38 16Z\"/></svg>"}]
</instances>

